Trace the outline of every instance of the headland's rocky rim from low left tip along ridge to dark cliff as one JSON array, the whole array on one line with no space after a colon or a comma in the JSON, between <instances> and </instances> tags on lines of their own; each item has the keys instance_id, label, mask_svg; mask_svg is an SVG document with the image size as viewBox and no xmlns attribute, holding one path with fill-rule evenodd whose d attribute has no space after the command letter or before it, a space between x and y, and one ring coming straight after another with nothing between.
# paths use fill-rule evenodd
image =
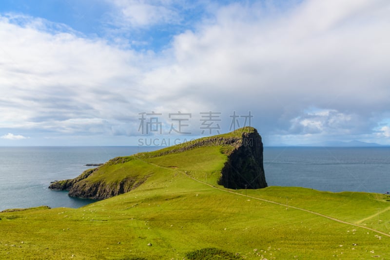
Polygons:
<instances>
[{"instance_id":1,"label":"headland's rocky rim from low left tip along ridge to dark cliff","mask_svg":"<svg viewBox=\"0 0 390 260\"><path fill-rule=\"evenodd\" d=\"M219 151L227 156L219 185L233 189L267 186L261 137L257 130L247 127L154 152L117 157L95 169L84 171L75 179L53 182L49 188L69 190L72 197L106 199L137 188L153 175L158 166L148 162L151 158L165 158L176 153L184 155L182 160L186 151L210 146L219 147Z\"/></svg>"}]
</instances>

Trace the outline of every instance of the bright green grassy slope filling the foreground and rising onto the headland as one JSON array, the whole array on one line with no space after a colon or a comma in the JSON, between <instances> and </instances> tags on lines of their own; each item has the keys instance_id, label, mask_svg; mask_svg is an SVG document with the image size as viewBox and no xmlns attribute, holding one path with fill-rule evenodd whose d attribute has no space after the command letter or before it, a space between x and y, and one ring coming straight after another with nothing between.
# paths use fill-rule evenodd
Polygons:
<instances>
[{"instance_id":1,"label":"bright green grassy slope filling the foreground and rising onto the headland","mask_svg":"<svg viewBox=\"0 0 390 260\"><path fill-rule=\"evenodd\" d=\"M390 259L387 195L228 189L229 147L185 147L102 166L107 182L147 176L125 194L1 212L0 259Z\"/></svg>"}]
</instances>

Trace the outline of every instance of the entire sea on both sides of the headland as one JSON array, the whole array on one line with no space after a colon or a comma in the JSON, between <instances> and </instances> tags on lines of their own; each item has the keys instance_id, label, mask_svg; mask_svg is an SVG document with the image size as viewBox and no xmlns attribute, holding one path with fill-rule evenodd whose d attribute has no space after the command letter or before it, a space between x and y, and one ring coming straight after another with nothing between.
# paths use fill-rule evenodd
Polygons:
<instances>
[{"instance_id":1,"label":"entire sea on both sides of the headland","mask_svg":"<svg viewBox=\"0 0 390 260\"><path fill-rule=\"evenodd\" d=\"M159 147L0 147L0 211L40 205L72 207L94 200L48 189L117 156ZM265 147L268 186L324 191L390 191L390 148Z\"/></svg>"}]
</instances>

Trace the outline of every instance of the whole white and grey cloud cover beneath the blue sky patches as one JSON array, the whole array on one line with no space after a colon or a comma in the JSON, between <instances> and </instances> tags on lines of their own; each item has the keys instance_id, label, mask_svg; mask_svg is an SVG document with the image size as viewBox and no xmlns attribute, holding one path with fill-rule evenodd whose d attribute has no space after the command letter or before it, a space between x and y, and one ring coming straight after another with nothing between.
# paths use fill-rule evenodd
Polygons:
<instances>
[{"instance_id":1,"label":"whole white and grey cloud cover beneath the blue sky patches","mask_svg":"<svg viewBox=\"0 0 390 260\"><path fill-rule=\"evenodd\" d=\"M181 19L174 3L115 7L141 28ZM133 134L142 111L251 110L263 136L373 134L389 112L389 12L387 0L234 3L157 54L3 16L0 127Z\"/></svg>"}]
</instances>

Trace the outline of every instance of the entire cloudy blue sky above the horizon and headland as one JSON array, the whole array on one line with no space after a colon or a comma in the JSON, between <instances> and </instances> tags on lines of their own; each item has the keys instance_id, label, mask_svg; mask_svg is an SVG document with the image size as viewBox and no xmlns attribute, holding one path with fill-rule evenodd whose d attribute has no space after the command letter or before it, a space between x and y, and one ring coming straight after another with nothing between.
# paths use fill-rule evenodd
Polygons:
<instances>
[{"instance_id":1,"label":"entire cloudy blue sky above the horizon and headland","mask_svg":"<svg viewBox=\"0 0 390 260\"><path fill-rule=\"evenodd\" d=\"M2 0L0 146L390 145L389 0Z\"/></svg>"}]
</instances>

